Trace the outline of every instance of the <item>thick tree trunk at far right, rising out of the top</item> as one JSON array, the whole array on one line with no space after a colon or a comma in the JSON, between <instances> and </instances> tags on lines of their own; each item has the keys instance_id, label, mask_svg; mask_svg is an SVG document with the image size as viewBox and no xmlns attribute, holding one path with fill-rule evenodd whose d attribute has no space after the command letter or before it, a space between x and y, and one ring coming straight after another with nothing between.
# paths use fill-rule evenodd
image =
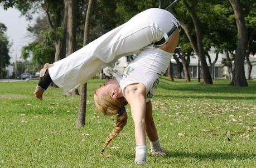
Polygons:
<instances>
[{"instance_id":1,"label":"thick tree trunk at far right, rising out of the top","mask_svg":"<svg viewBox=\"0 0 256 168\"><path fill-rule=\"evenodd\" d=\"M248 86L244 72L244 58L248 43L248 33L245 26L243 8L239 0L229 0L233 8L238 27L238 46L235 50L235 62L233 70L233 79L230 83L231 86Z\"/></svg>"}]
</instances>

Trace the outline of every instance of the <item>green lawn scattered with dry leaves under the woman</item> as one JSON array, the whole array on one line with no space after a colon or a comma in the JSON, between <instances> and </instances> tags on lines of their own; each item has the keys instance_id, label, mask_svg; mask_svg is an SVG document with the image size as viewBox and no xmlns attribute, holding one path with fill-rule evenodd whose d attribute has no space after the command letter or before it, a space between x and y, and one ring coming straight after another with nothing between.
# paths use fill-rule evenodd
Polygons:
<instances>
[{"instance_id":1,"label":"green lawn scattered with dry leaves under the woman","mask_svg":"<svg viewBox=\"0 0 256 168\"><path fill-rule=\"evenodd\" d=\"M143 166L133 164L129 108L127 126L100 155L115 122L94 108L93 93L101 83L89 81L84 128L76 128L79 96L50 88L39 101L32 95L36 81L0 83L0 167L256 167L255 81L236 88L224 80L201 85L163 78L152 104L168 151L148 154Z\"/></svg>"}]
</instances>

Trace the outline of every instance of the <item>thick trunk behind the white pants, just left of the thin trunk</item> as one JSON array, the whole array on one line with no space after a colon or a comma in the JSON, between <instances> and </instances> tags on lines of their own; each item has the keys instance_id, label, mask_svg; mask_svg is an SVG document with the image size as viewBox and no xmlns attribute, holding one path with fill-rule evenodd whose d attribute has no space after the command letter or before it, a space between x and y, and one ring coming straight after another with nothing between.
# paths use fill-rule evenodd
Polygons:
<instances>
[{"instance_id":1,"label":"thick trunk behind the white pants, just left of the thin trunk","mask_svg":"<svg viewBox=\"0 0 256 168\"><path fill-rule=\"evenodd\" d=\"M65 0L65 6L67 6L66 57L69 57L76 50L76 0ZM78 89L67 94L79 95Z\"/></svg>"}]
</instances>

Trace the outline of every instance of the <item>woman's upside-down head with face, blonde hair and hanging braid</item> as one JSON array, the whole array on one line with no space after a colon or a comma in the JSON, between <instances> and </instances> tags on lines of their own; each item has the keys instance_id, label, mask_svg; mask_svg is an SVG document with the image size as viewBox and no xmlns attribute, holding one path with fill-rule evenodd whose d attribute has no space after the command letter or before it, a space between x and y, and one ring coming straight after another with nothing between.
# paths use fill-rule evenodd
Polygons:
<instances>
[{"instance_id":1,"label":"woman's upside-down head with face, blonde hair and hanging braid","mask_svg":"<svg viewBox=\"0 0 256 168\"><path fill-rule=\"evenodd\" d=\"M107 137L103 150L109 142L117 136L127 123L127 113L124 106L127 101L122 95L122 90L115 78L106 80L103 86L100 86L94 93L94 103L96 108L104 115L117 115L117 122L115 123L114 130Z\"/></svg>"}]
</instances>

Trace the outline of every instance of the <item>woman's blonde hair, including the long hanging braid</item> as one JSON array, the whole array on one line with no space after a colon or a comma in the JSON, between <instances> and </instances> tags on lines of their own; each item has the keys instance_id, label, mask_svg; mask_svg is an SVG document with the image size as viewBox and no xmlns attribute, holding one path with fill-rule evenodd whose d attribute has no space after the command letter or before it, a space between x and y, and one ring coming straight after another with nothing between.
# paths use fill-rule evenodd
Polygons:
<instances>
[{"instance_id":1,"label":"woman's blonde hair, including the long hanging braid","mask_svg":"<svg viewBox=\"0 0 256 168\"><path fill-rule=\"evenodd\" d=\"M114 99L110 96L110 93L105 93L101 97L94 93L94 103L96 108L104 115L118 114L120 109L128 104L124 97ZM114 129L112 133L108 135L107 139L105 140L105 144L103 145L102 154L110 141L118 135L118 133L124 128L126 123L127 113L126 111L124 111L124 113L117 115L117 121L115 123Z\"/></svg>"}]
</instances>

